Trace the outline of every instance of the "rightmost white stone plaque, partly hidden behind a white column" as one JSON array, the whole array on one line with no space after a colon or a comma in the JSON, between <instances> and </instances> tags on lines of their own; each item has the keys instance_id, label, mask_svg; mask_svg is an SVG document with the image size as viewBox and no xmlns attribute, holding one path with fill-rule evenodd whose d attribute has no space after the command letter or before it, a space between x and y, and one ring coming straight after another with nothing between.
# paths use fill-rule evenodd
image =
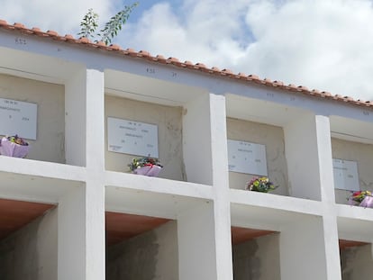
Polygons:
<instances>
[{"instance_id":1,"label":"rightmost white stone plaque, partly hidden behind a white column","mask_svg":"<svg viewBox=\"0 0 373 280\"><path fill-rule=\"evenodd\" d=\"M358 163L356 161L333 158L332 168L335 188L359 191Z\"/></svg>"}]
</instances>

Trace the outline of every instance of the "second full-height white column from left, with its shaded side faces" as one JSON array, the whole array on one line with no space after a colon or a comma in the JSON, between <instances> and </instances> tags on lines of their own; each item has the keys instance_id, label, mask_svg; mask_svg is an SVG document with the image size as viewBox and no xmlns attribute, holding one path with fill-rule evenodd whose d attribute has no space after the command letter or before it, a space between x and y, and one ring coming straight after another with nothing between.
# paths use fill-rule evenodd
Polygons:
<instances>
[{"instance_id":1,"label":"second full-height white column from left, with its shaded side faces","mask_svg":"<svg viewBox=\"0 0 373 280\"><path fill-rule=\"evenodd\" d=\"M188 213L177 219L179 263L181 267L186 266L185 269L180 269L180 280L229 280L232 279L232 243L225 98L222 95L202 95L187 104L185 109L183 140L187 180L212 185L214 203L210 209L199 209L200 212ZM206 215L209 211L212 211L210 219L213 224L207 222ZM199 235L189 235L195 223L199 227L198 234L208 232L207 238L214 241L206 243L209 248L205 248L208 252L214 252L214 255L208 256L214 257L214 261L210 260L211 265L204 268L201 267L205 266L205 261L199 243L205 242L205 239L201 239ZM187 231L183 232L182 229ZM188 243L189 248L184 248L182 242ZM190 244L194 244L193 247ZM191 269L196 273L192 277L188 272Z\"/></svg>"}]
</instances>

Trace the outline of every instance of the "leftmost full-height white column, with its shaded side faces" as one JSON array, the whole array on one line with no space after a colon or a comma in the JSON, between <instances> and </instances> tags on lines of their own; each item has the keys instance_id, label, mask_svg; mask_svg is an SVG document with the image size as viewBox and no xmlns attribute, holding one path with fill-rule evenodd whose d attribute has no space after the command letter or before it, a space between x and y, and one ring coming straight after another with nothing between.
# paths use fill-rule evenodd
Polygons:
<instances>
[{"instance_id":1,"label":"leftmost full-height white column, with its shaded side faces","mask_svg":"<svg viewBox=\"0 0 373 280\"><path fill-rule=\"evenodd\" d=\"M81 69L66 85L68 164L86 184L59 201L59 279L105 279L104 73Z\"/></svg>"}]
</instances>

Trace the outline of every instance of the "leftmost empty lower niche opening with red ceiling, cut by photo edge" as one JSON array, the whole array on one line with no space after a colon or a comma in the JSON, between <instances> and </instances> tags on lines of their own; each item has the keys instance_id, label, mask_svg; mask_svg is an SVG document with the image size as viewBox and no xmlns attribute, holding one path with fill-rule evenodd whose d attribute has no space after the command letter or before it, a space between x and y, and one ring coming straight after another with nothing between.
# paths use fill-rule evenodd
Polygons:
<instances>
[{"instance_id":1,"label":"leftmost empty lower niche opening with red ceiling, cut by photo edge","mask_svg":"<svg viewBox=\"0 0 373 280\"><path fill-rule=\"evenodd\" d=\"M57 279L57 207L0 199L0 275Z\"/></svg>"}]
</instances>

